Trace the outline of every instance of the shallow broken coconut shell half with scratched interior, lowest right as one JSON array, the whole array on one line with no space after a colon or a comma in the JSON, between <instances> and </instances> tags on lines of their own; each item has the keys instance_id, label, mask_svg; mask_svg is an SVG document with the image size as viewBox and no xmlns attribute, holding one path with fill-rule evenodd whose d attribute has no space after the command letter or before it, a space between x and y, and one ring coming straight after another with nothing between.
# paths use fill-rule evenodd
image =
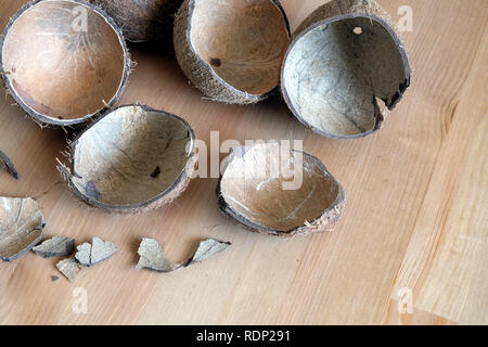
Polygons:
<instances>
[{"instance_id":1,"label":"shallow broken coconut shell half with scratched interior, lowest right","mask_svg":"<svg viewBox=\"0 0 488 347\"><path fill-rule=\"evenodd\" d=\"M279 236L330 230L345 202L343 188L318 158L278 143L234 147L217 195L223 213L253 231Z\"/></svg>"}]
</instances>

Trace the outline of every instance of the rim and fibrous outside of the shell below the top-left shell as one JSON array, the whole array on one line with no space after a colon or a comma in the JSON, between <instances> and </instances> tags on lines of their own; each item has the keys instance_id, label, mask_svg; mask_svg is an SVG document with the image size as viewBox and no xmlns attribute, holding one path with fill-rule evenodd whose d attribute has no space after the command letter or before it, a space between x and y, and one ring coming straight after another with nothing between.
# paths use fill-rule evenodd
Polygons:
<instances>
[{"instance_id":1,"label":"rim and fibrous outside of the shell below the top-left shell","mask_svg":"<svg viewBox=\"0 0 488 347\"><path fill-rule=\"evenodd\" d=\"M190 181L193 178L193 175L195 172L195 166L197 163L197 155L196 155L196 147L193 146L191 154L188 157L187 160L187 165L184 167L184 169L182 170L182 172L180 174L180 176L177 178L177 180L169 187L167 188L164 192L159 193L157 196L146 201L146 202L142 202L139 204L132 204L132 205L111 205L111 204L105 204L102 202L99 202L86 194L84 194L77 187L76 184L73 182L73 178L77 176L76 174L76 167L75 167L75 160L74 160L74 155L75 155L75 151L76 151L76 146L78 143L79 138L86 132L89 131L91 127L95 126L98 121L102 120L104 117L106 117L107 115L110 115L112 112L115 112L119 108L124 108L124 107L128 107L128 106L139 106L142 107L144 111L147 112L157 112L157 113L162 113L167 115L168 117L172 117L177 120L180 120L181 123L183 123L185 125L185 127L188 127L188 130L190 132L190 137L191 139L194 141L196 139L195 137L195 132L193 131L193 129L191 128L190 124L187 123L187 120L184 120L183 118L167 113L165 111L158 111L158 110L154 110L147 105L141 105L141 104L129 104L129 105L123 105L123 106L118 106L116 108L111 110L108 113L106 113L103 117L101 117L100 119L98 119L95 123L93 123L92 125L90 125L90 127L88 127L82 133L80 133L79 136L77 136L77 138L70 142L69 144L69 149L70 149L70 167L66 167L63 164L60 163L57 169L61 172L62 178L65 180L65 182L68 184L70 191L75 194L76 197L78 197L79 200L81 200L84 203L86 203L87 205L94 207L94 208L102 208L105 209L107 211L111 213L116 213L116 214L121 214L121 215L129 215L129 214L143 214L143 213L149 213L152 211L154 209L170 205L174 201L176 201L188 188L188 185L190 184Z\"/></svg>"}]
</instances>

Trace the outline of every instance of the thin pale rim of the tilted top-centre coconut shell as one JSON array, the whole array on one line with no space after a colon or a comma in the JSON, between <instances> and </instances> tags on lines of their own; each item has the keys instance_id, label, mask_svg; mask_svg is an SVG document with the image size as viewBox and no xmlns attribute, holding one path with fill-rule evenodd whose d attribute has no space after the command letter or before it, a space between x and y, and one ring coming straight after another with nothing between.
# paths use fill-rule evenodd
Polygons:
<instances>
[{"instance_id":1,"label":"thin pale rim of the tilted top-centre coconut shell","mask_svg":"<svg viewBox=\"0 0 488 347\"><path fill-rule=\"evenodd\" d=\"M288 17L286 16L286 12L284 11L283 7L281 5L279 0L269 0L271 1L281 12L283 20L285 21L285 26L286 26L286 31L288 33L288 39L292 39L292 30L290 28L290 21ZM181 4L182 7L184 5L184 2ZM208 64L207 62L205 62L198 53L196 53L195 49L193 48L192 44L192 40L191 40L191 31L192 31L192 18L193 18L193 12L195 10L195 0L189 0L188 1L188 7L189 7L189 14L188 14L188 23L187 23L187 33L185 33L185 38L187 38L187 44L190 49L190 51L193 53L193 55L195 56L196 61L200 63L201 66L204 66L205 69L211 75L211 77L214 77L220 85L222 85L227 90L231 91L232 93L236 94L240 98L243 98L245 100L251 100L253 102L259 102L262 100L266 100L268 98L270 98L271 95L273 95L279 89L280 89L280 80L278 81L278 85L271 89L270 91L264 93L264 94L252 94L252 93L247 93L244 92L242 90L236 89L235 87L231 86L230 83L228 83L224 79L222 79L218 74L216 74L216 72L214 70L214 68L211 67L210 64ZM281 77L281 76L280 76Z\"/></svg>"}]
</instances>

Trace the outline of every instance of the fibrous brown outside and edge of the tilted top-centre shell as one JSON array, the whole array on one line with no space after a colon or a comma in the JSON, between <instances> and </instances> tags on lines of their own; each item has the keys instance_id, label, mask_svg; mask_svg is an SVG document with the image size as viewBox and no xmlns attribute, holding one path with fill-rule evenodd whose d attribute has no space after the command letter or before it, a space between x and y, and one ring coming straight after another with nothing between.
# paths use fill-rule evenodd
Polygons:
<instances>
[{"instance_id":1,"label":"fibrous brown outside and edge of the tilted top-centre shell","mask_svg":"<svg viewBox=\"0 0 488 347\"><path fill-rule=\"evenodd\" d=\"M290 22L283 7L279 0L272 1L283 14L288 34ZM248 94L240 91L220 78L209 64L204 62L195 52L191 44L192 15L195 8L195 0L184 0L181 4L174 29L174 44L177 60L183 73L190 78L192 83L213 101L229 104L253 104L268 99L274 94L279 86L270 92L261 95Z\"/></svg>"}]
</instances>

